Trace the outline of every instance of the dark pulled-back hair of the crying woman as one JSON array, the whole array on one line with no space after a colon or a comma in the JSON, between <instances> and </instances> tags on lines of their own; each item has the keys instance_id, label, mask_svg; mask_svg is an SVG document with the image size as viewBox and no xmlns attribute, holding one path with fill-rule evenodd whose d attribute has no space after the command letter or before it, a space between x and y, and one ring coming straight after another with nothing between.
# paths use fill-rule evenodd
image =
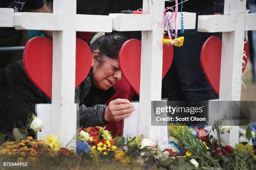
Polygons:
<instances>
[{"instance_id":1,"label":"dark pulled-back hair of the crying woman","mask_svg":"<svg viewBox=\"0 0 256 170\"><path fill-rule=\"evenodd\" d=\"M106 35L98 38L90 45L91 51L100 50L100 54L106 55L112 59L118 59L119 51L127 41L127 37L120 32L107 33Z\"/></svg>"}]
</instances>

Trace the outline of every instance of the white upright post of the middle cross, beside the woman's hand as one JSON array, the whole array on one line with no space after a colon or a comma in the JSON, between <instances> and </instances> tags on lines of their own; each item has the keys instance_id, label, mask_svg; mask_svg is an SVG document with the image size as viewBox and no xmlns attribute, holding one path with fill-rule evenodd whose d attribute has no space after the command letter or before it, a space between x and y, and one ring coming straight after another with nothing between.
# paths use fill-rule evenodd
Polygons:
<instances>
[{"instance_id":1,"label":"white upright post of the middle cross, beside the woman's hand","mask_svg":"<svg viewBox=\"0 0 256 170\"><path fill-rule=\"evenodd\" d=\"M164 0L143 0L143 10L153 14L154 30L142 31L141 84L139 107L139 134L160 140L160 126L151 126L151 101L161 100L163 31L159 23L163 15ZM166 134L167 138L167 134Z\"/></svg>"}]
</instances>

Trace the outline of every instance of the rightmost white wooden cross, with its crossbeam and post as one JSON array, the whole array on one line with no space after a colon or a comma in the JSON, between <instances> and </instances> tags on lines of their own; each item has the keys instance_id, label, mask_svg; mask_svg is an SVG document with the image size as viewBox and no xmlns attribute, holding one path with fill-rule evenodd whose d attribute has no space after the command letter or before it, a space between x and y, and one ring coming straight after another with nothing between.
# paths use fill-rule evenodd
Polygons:
<instances>
[{"instance_id":1,"label":"rightmost white wooden cross, with its crossbeam and post","mask_svg":"<svg viewBox=\"0 0 256 170\"><path fill-rule=\"evenodd\" d=\"M241 100L241 49L245 30L256 30L256 14L246 13L246 0L225 0L224 15L203 15L198 18L198 31L223 32L219 101ZM219 112L223 112L223 108L219 108ZM230 145L238 143L238 132L239 126L233 126L230 135L225 136Z\"/></svg>"}]
</instances>

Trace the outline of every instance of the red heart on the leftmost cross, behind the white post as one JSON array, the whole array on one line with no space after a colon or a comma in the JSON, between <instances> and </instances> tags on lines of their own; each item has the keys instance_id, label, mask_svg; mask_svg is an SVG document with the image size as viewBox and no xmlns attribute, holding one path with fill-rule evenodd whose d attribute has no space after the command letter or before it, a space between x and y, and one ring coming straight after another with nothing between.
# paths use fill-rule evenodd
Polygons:
<instances>
[{"instance_id":1,"label":"red heart on the leftmost cross, behind the white post","mask_svg":"<svg viewBox=\"0 0 256 170\"><path fill-rule=\"evenodd\" d=\"M28 78L38 89L51 99L52 84L52 41L46 37L33 37L26 43L23 66ZM75 87L88 75L92 63L90 47L83 40L76 40Z\"/></svg>"}]
</instances>

